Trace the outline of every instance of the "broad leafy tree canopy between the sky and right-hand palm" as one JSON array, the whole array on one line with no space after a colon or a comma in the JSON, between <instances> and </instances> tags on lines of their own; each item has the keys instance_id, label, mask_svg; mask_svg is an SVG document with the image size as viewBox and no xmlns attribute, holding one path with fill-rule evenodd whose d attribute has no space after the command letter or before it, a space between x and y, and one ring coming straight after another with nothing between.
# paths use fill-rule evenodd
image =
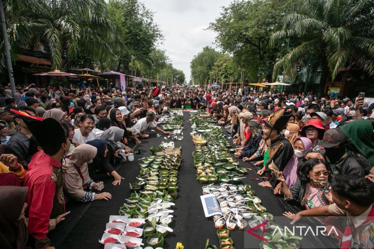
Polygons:
<instances>
[{"instance_id":1,"label":"broad leafy tree canopy between the sky and right-hand palm","mask_svg":"<svg viewBox=\"0 0 374 249\"><path fill-rule=\"evenodd\" d=\"M286 49L271 47L272 33L281 29L286 8L292 8L291 0L234 1L209 27L217 32L218 46L233 55L250 81L258 80L258 72L270 79L279 51Z\"/></svg>"}]
</instances>

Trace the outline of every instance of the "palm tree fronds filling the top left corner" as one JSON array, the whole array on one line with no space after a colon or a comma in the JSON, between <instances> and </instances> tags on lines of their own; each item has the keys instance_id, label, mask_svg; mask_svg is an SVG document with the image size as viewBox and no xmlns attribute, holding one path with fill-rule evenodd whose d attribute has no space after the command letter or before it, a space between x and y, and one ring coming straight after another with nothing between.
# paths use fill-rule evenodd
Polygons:
<instances>
[{"instance_id":1,"label":"palm tree fronds filling the top left corner","mask_svg":"<svg viewBox=\"0 0 374 249\"><path fill-rule=\"evenodd\" d=\"M13 52L41 44L50 55L53 69L64 67L65 53L79 50L96 60L106 60L111 55L114 30L103 0L32 0L33 5L22 6L13 5L16 1L8 2L8 34Z\"/></svg>"}]
</instances>

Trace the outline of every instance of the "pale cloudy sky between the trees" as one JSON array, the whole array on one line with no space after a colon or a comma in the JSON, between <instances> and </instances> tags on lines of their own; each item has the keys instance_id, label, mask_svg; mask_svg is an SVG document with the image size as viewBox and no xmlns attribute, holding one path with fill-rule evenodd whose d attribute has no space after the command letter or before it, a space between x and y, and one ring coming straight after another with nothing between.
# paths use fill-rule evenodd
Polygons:
<instances>
[{"instance_id":1,"label":"pale cloudy sky between the trees","mask_svg":"<svg viewBox=\"0 0 374 249\"><path fill-rule=\"evenodd\" d=\"M203 47L215 47L215 33L206 29L231 0L142 0L155 12L155 21L164 35L159 47L167 51L173 66L190 80L190 62Z\"/></svg>"}]
</instances>

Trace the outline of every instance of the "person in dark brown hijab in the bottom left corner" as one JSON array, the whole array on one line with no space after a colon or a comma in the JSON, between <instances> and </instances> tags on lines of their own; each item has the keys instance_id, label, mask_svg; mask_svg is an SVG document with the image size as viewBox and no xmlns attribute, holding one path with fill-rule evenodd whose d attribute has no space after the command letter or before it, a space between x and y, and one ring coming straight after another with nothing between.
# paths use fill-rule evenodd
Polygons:
<instances>
[{"instance_id":1,"label":"person in dark brown hijab in the bottom left corner","mask_svg":"<svg viewBox=\"0 0 374 249\"><path fill-rule=\"evenodd\" d=\"M0 245L24 249L29 233L25 219L29 187L0 187Z\"/></svg>"}]
</instances>

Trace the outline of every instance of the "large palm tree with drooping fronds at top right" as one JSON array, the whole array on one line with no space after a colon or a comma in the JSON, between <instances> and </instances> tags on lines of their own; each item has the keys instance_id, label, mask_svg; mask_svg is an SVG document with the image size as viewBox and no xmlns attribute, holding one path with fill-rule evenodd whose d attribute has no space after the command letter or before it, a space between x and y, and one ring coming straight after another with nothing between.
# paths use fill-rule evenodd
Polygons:
<instances>
[{"instance_id":1,"label":"large palm tree with drooping fronds at top right","mask_svg":"<svg viewBox=\"0 0 374 249\"><path fill-rule=\"evenodd\" d=\"M300 13L284 18L273 42L294 46L275 63L293 81L296 66L313 58L322 66L321 83L334 78L341 67L355 67L374 75L374 2L372 0L304 0Z\"/></svg>"}]
</instances>

